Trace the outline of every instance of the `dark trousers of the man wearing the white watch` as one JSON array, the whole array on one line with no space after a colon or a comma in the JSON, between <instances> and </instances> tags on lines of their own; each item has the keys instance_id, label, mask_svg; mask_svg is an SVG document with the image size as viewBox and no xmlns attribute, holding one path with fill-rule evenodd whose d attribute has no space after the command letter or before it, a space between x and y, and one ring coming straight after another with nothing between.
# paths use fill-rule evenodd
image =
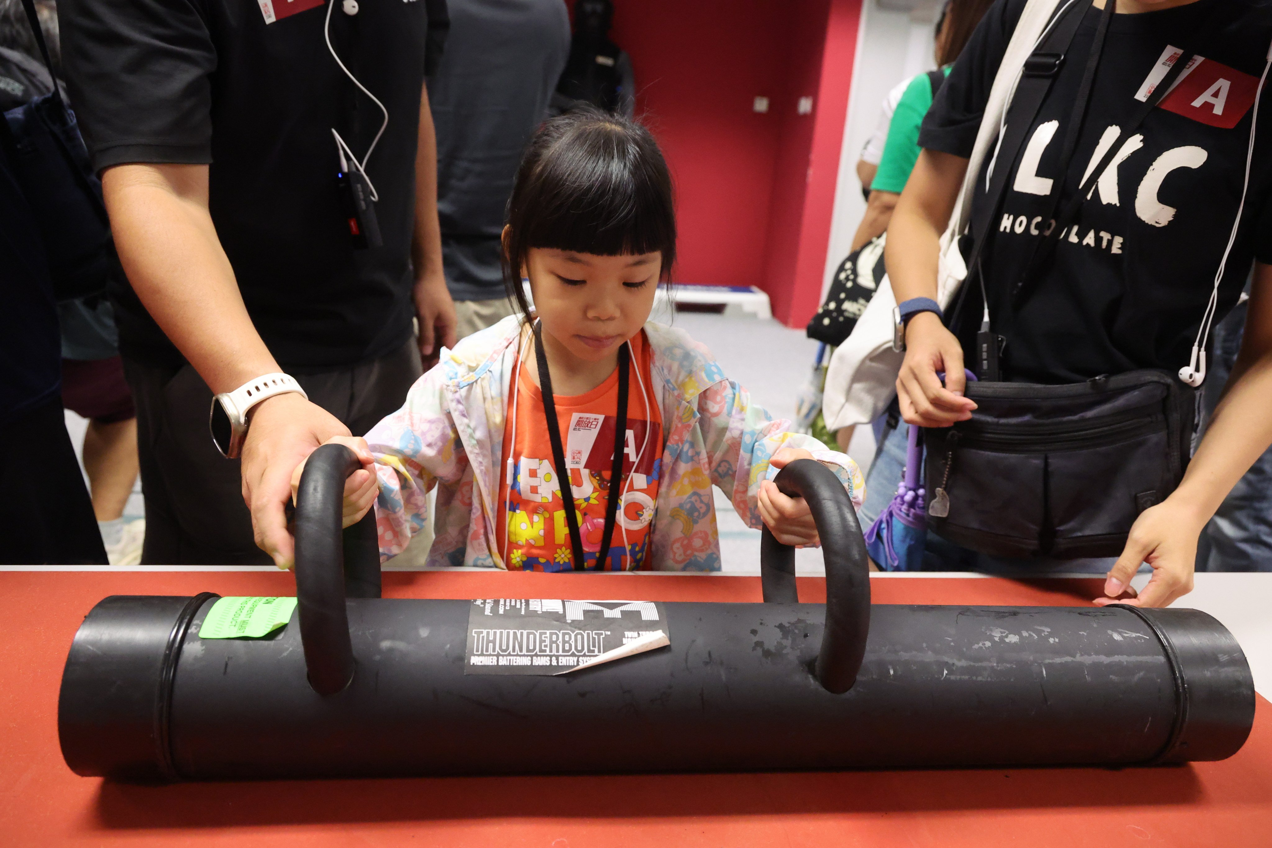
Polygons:
<instances>
[{"instance_id":1,"label":"dark trousers of the man wearing the white watch","mask_svg":"<svg viewBox=\"0 0 1272 848\"><path fill-rule=\"evenodd\" d=\"M243 502L239 460L225 459L207 431L212 393L190 365L123 360L137 407L145 564L273 564L256 547ZM309 399L361 436L398 409L421 374L412 338L382 359L322 374L294 374Z\"/></svg>"}]
</instances>

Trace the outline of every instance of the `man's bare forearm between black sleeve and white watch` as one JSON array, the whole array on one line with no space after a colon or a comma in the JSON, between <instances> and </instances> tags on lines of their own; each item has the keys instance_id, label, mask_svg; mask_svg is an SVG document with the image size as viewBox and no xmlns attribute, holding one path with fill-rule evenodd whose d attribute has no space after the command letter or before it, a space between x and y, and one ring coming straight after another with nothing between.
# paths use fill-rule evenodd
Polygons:
<instances>
[{"instance_id":1,"label":"man's bare forearm between black sleeve and white watch","mask_svg":"<svg viewBox=\"0 0 1272 848\"><path fill-rule=\"evenodd\" d=\"M134 291L212 392L277 371L207 212L207 165L116 165L102 188Z\"/></svg>"}]
</instances>

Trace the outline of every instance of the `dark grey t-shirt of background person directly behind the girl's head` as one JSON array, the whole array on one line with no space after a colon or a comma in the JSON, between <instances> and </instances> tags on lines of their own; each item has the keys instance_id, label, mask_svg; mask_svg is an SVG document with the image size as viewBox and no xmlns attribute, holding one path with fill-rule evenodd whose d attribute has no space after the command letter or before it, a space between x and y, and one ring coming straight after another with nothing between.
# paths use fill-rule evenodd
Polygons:
<instances>
[{"instance_id":1,"label":"dark grey t-shirt of background person directly behind the girl's head","mask_svg":"<svg viewBox=\"0 0 1272 848\"><path fill-rule=\"evenodd\" d=\"M429 104L438 216L457 300L504 296L504 209L525 142L547 117L570 52L561 0L449 0L450 33Z\"/></svg>"}]
</instances>

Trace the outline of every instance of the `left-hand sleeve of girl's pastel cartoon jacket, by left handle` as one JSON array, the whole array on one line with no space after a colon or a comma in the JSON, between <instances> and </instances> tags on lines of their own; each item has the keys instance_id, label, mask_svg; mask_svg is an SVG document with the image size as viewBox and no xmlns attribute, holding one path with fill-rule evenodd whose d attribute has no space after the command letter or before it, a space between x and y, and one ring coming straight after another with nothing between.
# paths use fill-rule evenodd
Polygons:
<instances>
[{"instance_id":1,"label":"left-hand sleeve of girl's pastel cartoon jacket, by left handle","mask_svg":"<svg viewBox=\"0 0 1272 848\"><path fill-rule=\"evenodd\" d=\"M424 529L429 491L438 481L458 483L468 467L446 397L439 365L416 380L401 409L366 434L380 483L375 524L382 558L401 553Z\"/></svg>"}]
</instances>

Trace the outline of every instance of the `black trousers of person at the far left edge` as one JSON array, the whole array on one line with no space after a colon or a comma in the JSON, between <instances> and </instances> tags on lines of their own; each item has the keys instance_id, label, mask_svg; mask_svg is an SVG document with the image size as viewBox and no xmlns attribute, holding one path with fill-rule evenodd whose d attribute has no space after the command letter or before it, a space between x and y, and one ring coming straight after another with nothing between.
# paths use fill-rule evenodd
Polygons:
<instances>
[{"instance_id":1,"label":"black trousers of person at the far left edge","mask_svg":"<svg viewBox=\"0 0 1272 848\"><path fill-rule=\"evenodd\" d=\"M0 426L0 563L107 564L61 397Z\"/></svg>"}]
</instances>

